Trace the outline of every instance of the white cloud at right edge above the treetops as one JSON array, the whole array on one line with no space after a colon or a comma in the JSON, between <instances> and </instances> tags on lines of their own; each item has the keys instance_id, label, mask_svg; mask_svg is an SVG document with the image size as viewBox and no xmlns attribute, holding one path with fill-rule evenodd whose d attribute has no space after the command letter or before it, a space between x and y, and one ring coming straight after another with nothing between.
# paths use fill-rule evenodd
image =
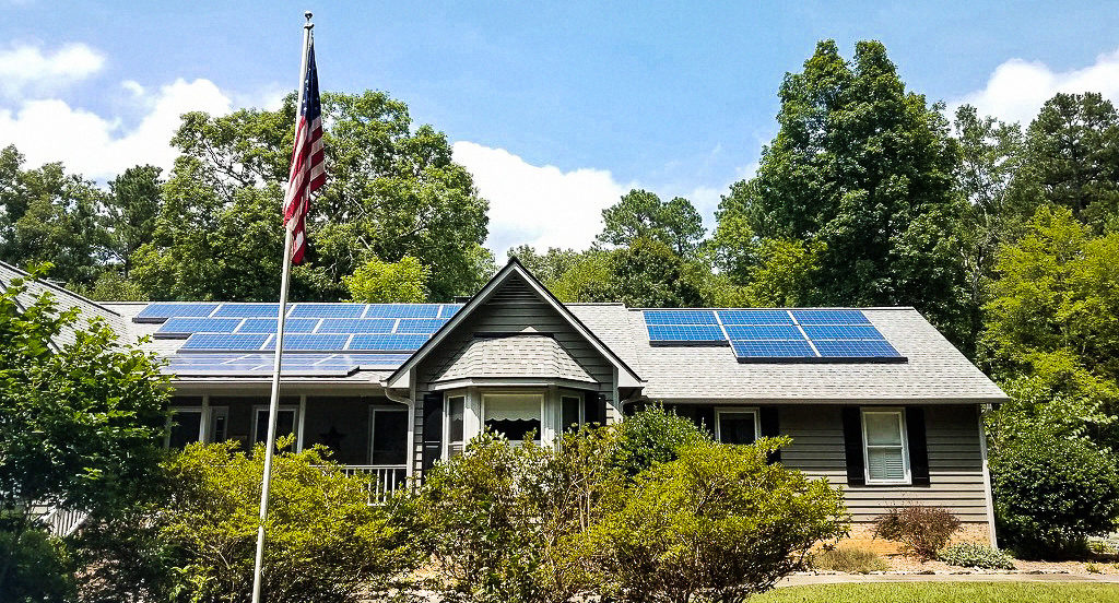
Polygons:
<instances>
[{"instance_id":1,"label":"white cloud at right edge above the treetops","mask_svg":"<svg viewBox=\"0 0 1119 603\"><path fill-rule=\"evenodd\" d=\"M1080 69L1054 72L1041 62L1013 58L995 68L987 86L950 103L955 113L961 104L971 104L980 115L994 115L1023 126L1037 114L1045 101L1059 92L1098 92L1119 101L1119 50L1096 57L1096 63Z\"/></svg>"}]
</instances>

